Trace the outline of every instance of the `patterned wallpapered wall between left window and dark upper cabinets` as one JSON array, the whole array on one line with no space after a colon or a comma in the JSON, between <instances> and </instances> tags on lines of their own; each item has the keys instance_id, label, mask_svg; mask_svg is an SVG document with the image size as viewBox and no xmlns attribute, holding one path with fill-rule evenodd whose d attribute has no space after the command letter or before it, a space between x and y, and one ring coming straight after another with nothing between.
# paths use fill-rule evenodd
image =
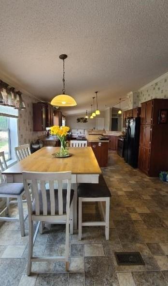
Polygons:
<instances>
[{"instance_id":1,"label":"patterned wallpapered wall between left window and dark upper cabinets","mask_svg":"<svg viewBox=\"0 0 168 286\"><path fill-rule=\"evenodd\" d=\"M26 110L19 111L18 120L18 141L19 145L30 143L45 135L45 131L33 131L33 103L38 100L28 95L22 95L26 105Z\"/></svg>"}]
</instances>

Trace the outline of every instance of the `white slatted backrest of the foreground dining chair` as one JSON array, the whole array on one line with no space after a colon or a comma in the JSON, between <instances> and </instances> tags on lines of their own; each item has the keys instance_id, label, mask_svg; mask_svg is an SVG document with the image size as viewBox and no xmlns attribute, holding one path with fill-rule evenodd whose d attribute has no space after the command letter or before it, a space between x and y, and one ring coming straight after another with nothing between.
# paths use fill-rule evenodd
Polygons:
<instances>
[{"instance_id":1,"label":"white slatted backrest of the foreground dining chair","mask_svg":"<svg viewBox=\"0 0 168 286\"><path fill-rule=\"evenodd\" d=\"M32 215L33 206L28 188L31 182L31 192L35 202L34 216L65 216L70 214L70 187L71 172L39 173L23 172L23 182L28 202L29 215ZM66 213L63 213L63 183L67 183ZM57 192L54 190L57 184ZM46 190L47 186L47 190ZM49 187L49 190L48 190ZM33 219L34 220L34 219Z\"/></svg>"}]
</instances>

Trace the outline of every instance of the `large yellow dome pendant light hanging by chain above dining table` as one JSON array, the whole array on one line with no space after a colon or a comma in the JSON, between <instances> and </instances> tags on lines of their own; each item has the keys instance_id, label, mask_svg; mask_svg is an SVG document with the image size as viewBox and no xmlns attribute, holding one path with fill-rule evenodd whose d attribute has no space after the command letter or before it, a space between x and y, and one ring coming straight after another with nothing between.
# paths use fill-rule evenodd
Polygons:
<instances>
[{"instance_id":1,"label":"large yellow dome pendant light hanging by chain above dining table","mask_svg":"<svg viewBox=\"0 0 168 286\"><path fill-rule=\"evenodd\" d=\"M70 95L65 94L65 59L67 58L67 55L60 55L59 58L63 60L63 89L62 89L62 95L56 95L52 100L51 104L55 106L75 106L76 101L73 97Z\"/></svg>"}]
</instances>

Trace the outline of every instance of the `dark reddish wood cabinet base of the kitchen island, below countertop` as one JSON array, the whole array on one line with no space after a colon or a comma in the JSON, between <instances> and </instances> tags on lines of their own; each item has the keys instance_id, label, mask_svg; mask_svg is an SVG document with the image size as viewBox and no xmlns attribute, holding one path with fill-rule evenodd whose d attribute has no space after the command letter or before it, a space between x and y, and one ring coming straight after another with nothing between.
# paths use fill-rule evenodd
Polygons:
<instances>
[{"instance_id":1,"label":"dark reddish wood cabinet base of the kitchen island, below countertop","mask_svg":"<svg viewBox=\"0 0 168 286\"><path fill-rule=\"evenodd\" d=\"M88 146L92 147L99 167L106 167L108 163L108 142L88 142Z\"/></svg>"}]
</instances>

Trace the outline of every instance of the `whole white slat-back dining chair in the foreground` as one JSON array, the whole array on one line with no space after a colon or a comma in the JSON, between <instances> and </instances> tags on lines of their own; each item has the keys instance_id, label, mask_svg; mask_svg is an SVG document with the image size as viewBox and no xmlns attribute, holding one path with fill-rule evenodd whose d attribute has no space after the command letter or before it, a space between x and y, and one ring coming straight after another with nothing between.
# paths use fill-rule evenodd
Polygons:
<instances>
[{"instance_id":1,"label":"whole white slat-back dining chair in the foreground","mask_svg":"<svg viewBox=\"0 0 168 286\"><path fill-rule=\"evenodd\" d=\"M71 190L71 172L39 173L23 172L23 181L28 202L28 270L31 273L32 262L40 261L65 261L66 270L69 270L69 232L73 233L73 193ZM28 182L31 181L33 202L31 201ZM67 189L63 190L63 183L67 183ZM55 190L54 185L58 188ZM46 186L49 185L49 190ZM66 224L65 256L33 257L33 222L50 222ZM69 231L70 226L70 231Z\"/></svg>"}]
</instances>

